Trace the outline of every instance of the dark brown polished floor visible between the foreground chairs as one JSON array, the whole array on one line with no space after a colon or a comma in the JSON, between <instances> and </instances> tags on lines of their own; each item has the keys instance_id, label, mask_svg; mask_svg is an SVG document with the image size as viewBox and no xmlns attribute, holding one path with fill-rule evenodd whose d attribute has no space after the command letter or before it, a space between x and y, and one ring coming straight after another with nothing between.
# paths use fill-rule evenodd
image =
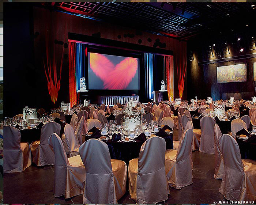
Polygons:
<instances>
[{"instance_id":1,"label":"dark brown polished floor visible between the foreground chairs","mask_svg":"<svg viewBox=\"0 0 256 205\"><path fill-rule=\"evenodd\" d=\"M178 130L174 128L173 140L178 140ZM193 152L193 184L180 190L170 188L168 204L210 203L213 201L226 201L219 187L221 180L214 179L214 155ZM38 168L30 166L23 172L4 175L4 201L5 203L22 204L82 204L83 195L65 200L64 197L53 195L54 166ZM10 184L15 186L9 186ZM15 193L15 194L13 194ZM118 200L118 204L135 204L130 199L129 190Z\"/></svg>"}]
</instances>

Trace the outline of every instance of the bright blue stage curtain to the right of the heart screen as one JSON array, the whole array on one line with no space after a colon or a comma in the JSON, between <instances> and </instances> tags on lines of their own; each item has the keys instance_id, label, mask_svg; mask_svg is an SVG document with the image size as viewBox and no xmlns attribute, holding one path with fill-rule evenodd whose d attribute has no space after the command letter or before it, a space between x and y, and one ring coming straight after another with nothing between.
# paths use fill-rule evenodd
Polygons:
<instances>
[{"instance_id":1,"label":"bright blue stage curtain to the right of the heart screen","mask_svg":"<svg viewBox=\"0 0 256 205\"><path fill-rule=\"evenodd\" d=\"M145 63L145 87L146 87L146 97L148 99L153 99L154 95L151 92L154 91L153 86L153 58L154 54L144 53L144 63Z\"/></svg>"}]
</instances>

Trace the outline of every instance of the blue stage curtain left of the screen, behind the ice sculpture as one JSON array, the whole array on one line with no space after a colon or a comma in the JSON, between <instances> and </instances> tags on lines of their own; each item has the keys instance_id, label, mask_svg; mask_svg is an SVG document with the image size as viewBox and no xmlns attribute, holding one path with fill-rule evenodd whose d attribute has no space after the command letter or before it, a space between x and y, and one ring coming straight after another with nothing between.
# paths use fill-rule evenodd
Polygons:
<instances>
[{"instance_id":1,"label":"blue stage curtain left of the screen, behind the ice sculpture","mask_svg":"<svg viewBox=\"0 0 256 205\"><path fill-rule=\"evenodd\" d=\"M83 43L76 43L76 92L80 88L80 78L85 77L85 48L86 46Z\"/></svg>"}]
</instances>

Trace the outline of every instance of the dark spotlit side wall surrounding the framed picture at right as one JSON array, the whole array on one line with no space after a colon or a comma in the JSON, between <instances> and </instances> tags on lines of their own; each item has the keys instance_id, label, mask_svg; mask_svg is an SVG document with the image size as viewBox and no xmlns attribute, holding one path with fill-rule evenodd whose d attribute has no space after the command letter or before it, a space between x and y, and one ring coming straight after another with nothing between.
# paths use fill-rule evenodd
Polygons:
<instances>
[{"instance_id":1,"label":"dark spotlit side wall surrounding the framed picture at right","mask_svg":"<svg viewBox=\"0 0 256 205\"><path fill-rule=\"evenodd\" d=\"M212 33L189 39L187 42L188 99L195 99L195 96L197 99L206 99L209 96L214 100L223 99L230 97L226 95L227 93L236 91L239 91L245 99L255 96L253 62L256 62L256 58L253 57L253 53L256 53L256 49L249 50L249 43L251 43L252 36L255 37L255 32L244 31L241 34L230 30L224 34ZM238 37L241 38L240 42L237 41ZM228 45L229 54L223 53L222 48L225 43ZM208 57L210 46L213 57ZM244 52L240 52L241 48L244 48ZM189 61L191 53L193 61ZM217 83L217 67L236 64L247 64L247 81Z\"/></svg>"}]
</instances>

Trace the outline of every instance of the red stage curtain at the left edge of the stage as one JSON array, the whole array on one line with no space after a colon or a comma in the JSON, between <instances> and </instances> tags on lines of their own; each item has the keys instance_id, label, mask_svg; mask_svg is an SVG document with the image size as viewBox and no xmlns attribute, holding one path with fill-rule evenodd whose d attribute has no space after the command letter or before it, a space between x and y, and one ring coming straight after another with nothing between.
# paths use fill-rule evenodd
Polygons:
<instances>
[{"instance_id":1,"label":"red stage curtain at the left edge of the stage","mask_svg":"<svg viewBox=\"0 0 256 205\"><path fill-rule=\"evenodd\" d=\"M69 102L70 106L76 104L76 43L68 42L69 58L68 58L68 73L69 73Z\"/></svg>"}]
</instances>

